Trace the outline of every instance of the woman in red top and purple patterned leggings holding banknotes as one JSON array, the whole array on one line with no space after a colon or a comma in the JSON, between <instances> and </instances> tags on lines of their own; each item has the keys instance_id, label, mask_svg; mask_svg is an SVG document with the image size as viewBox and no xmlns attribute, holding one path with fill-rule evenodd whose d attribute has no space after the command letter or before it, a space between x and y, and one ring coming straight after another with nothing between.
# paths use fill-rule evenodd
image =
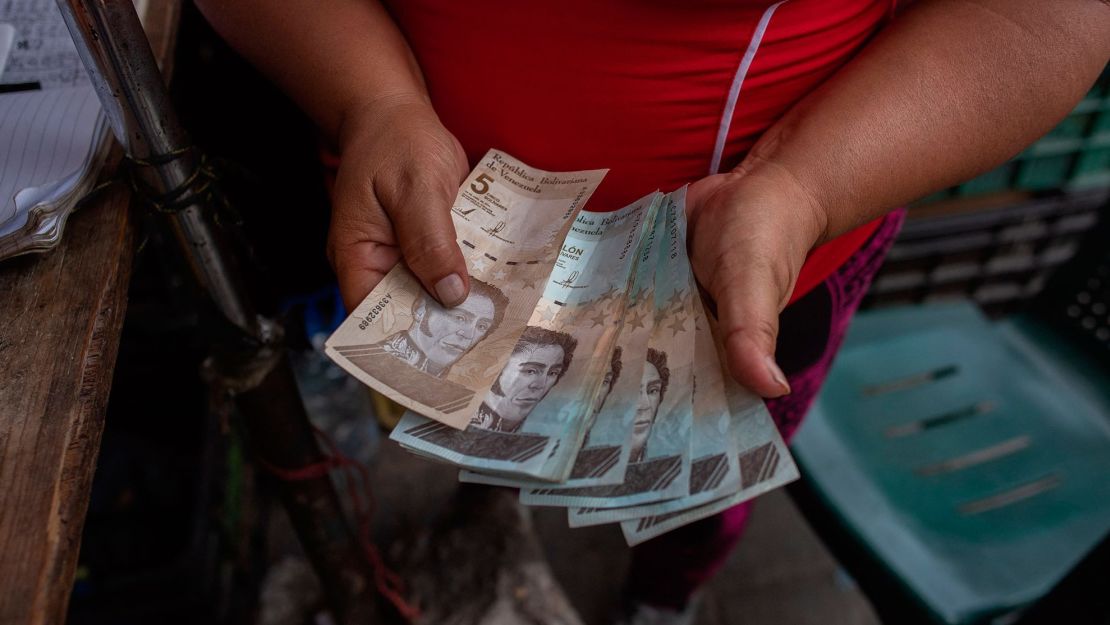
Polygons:
<instances>
[{"instance_id":1,"label":"woman in red top and purple patterned leggings holding banknotes","mask_svg":"<svg viewBox=\"0 0 1110 625\"><path fill-rule=\"evenodd\" d=\"M1110 56L1100 0L918 0L894 20L890 0L383 1L198 1L341 152L329 251L349 306L402 255L444 304L465 298L450 203L491 147L609 168L591 210L692 183L730 371L767 397L794 386L769 404L790 426L896 230L882 215L1017 153ZM780 363L806 351L783 349L780 313L798 336L826 326L805 366L776 363L776 343ZM743 516L642 558L673 592L635 598L680 612Z\"/></svg>"}]
</instances>

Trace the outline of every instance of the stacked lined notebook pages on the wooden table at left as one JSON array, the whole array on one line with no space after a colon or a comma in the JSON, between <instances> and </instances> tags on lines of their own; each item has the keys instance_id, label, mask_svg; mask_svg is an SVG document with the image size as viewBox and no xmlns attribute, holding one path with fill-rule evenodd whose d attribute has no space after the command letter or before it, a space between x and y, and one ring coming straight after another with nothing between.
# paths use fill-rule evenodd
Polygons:
<instances>
[{"instance_id":1,"label":"stacked lined notebook pages on the wooden table at left","mask_svg":"<svg viewBox=\"0 0 1110 625\"><path fill-rule=\"evenodd\" d=\"M0 2L0 259L58 244L110 147L57 2Z\"/></svg>"}]
</instances>

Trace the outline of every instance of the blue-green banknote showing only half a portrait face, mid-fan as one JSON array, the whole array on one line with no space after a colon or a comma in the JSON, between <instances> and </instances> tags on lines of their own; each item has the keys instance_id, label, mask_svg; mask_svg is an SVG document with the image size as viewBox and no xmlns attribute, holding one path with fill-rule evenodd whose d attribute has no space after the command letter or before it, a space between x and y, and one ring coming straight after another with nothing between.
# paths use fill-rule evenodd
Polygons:
<instances>
[{"instance_id":1,"label":"blue-green banknote showing only half a portrait face, mid-fan","mask_svg":"<svg viewBox=\"0 0 1110 625\"><path fill-rule=\"evenodd\" d=\"M686 259L685 188L667 194L656 264L654 325L636 389L628 465L620 484L521 492L534 505L608 507L683 496L689 474L697 296Z\"/></svg>"}]
</instances>

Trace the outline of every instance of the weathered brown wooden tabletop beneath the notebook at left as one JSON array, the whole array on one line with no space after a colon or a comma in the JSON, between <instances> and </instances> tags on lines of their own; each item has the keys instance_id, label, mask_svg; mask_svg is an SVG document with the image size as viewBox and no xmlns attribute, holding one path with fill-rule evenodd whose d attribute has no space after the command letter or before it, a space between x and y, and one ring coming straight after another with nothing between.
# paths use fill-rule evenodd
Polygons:
<instances>
[{"instance_id":1,"label":"weathered brown wooden tabletop beneath the notebook at left","mask_svg":"<svg viewBox=\"0 0 1110 625\"><path fill-rule=\"evenodd\" d=\"M169 69L180 4L151 3ZM61 244L0 263L0 624L65 621L131 274L130 196L73 214Z\"/></svg>"}]
</instances>

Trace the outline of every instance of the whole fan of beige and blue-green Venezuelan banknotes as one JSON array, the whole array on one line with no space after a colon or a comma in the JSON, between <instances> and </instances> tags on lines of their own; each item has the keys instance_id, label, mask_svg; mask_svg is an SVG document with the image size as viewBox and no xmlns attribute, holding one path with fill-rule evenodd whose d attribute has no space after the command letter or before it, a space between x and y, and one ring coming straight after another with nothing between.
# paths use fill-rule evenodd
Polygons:
<instances>
[{"instance_id":1,"label":"whole fan of beige and blue-green Venezuelan banknotes","mask_svg":"<svg viewBox=\"0 0 1110 625\"><path fill-rule=\"evenodd\" d=\"M491 150L452 214L471 293L441 306L398 264L327 354L408 409L391 438L567 508L629 544L797 477L763 401L723 365L686 253L686 190L582 211L604 170Z\"/></svg>"}]
</instances>

